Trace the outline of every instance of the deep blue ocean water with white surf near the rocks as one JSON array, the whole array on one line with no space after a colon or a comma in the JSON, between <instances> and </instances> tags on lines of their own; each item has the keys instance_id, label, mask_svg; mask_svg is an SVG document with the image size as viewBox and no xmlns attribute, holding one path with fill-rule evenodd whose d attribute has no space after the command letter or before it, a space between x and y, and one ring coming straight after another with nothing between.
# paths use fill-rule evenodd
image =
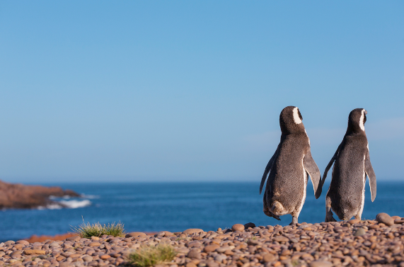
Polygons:
<instances>
[{"instance_id":1,"label":"deep blue ocean water with white surf near the rocks","mask_svg":"<svg viewBox=\"0 0 404 267\"><path fill-rule=\"evenodd\" d=\"M260 181L205 183L46 183L82 194L82 198L55 199L59 205L33 210L0 211L0 242L28 238L33 234L54 235L72 232L84 222L122 222L126 232L179 232L188 228L205 231L230 228L233 224L289 225L291 215L281 221L262 212ZM308 182L306 203L299 222L323 222L325 184L320 198L314 198ZM374 219L379 212L404 217L404 181L377 183L372 203L366 187L362 219ZM336 216L335 216L336 217Z\"/></svg>"}]
</instances>

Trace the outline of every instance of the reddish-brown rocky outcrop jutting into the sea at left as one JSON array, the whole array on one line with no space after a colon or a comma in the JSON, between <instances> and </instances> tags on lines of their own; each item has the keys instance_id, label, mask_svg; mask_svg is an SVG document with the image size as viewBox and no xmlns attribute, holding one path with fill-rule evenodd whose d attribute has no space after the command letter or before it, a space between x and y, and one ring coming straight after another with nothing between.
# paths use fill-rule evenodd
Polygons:
<instances>
[{"instance_id":1,"label":"reddish-brown rocky outcrop jutting into the sea at left","mask_svg":"<svg viewBox=\"0 0 404 267\"><path fill-rule=\"evenodd\" d=\"M55 203L50 199L51 195L55 197L62 197L64 195L71 197L79 196L78 193L71 190L63 190L59 186L25 186L21 183L5 183L0 181L0 209L45 207Z\"/></svg>"}]
</instances>

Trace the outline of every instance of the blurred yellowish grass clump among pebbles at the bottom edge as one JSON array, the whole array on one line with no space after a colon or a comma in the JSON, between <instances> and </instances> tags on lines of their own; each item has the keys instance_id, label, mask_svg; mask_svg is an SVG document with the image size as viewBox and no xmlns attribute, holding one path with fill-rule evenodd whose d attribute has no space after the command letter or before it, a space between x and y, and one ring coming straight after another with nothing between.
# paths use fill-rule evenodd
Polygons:
<instances>
[{"instance_id":1,"label":"blurred yellowish grass clump among pebbles at the bottom edge","mask_svg":"<svg viewBox=\"0 0 404 267\"><path fill-rule=\"evenodd\" d=\"M177 252L170 244L158 244L156 246L141 246L129 254L129 263L138 267L155 266L158 263L171 262Z\"/></svg>"}]
</instances>

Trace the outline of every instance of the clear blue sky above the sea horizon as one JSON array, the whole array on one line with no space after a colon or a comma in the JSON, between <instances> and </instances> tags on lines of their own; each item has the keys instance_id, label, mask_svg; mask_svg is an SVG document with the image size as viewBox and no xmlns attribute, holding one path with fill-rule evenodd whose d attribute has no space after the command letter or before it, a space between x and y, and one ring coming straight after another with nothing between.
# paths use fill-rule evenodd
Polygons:
<instances>
[{"instance_id":1,"label":"clear blue sky above the sea horizon","mask_svg":"<svg viewBox=\"0 0 404 267\"><path fill-rule=\"evenodd\" d=\"M298 106L403 179L404 1L0 1L0 179L257 181Z\"/></svg>"}]
</instances>

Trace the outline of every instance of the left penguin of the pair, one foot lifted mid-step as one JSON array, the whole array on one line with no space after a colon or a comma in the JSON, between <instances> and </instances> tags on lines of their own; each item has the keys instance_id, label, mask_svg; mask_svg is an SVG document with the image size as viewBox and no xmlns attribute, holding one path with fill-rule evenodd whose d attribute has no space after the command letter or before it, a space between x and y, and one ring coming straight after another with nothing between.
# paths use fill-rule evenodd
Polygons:
<instances>
[{"instance_id":1,"label":"left penguin of the pair, one foot lifted mid-step","mask_svg":"<svg viewBox=\"0 0 404 267\"><path fill-rule=\"evenodd\" d=\"M264 192L264 213L277 220L292 215L290 225L296 225L304 200L307 178L310 175L314 195L321 195L321 174L311 157L310 140L301 123L299 108L286 107L279 115L282 135L277 150L265 168L260 193L268 176Z\"/></svg>"}]
</instances>

